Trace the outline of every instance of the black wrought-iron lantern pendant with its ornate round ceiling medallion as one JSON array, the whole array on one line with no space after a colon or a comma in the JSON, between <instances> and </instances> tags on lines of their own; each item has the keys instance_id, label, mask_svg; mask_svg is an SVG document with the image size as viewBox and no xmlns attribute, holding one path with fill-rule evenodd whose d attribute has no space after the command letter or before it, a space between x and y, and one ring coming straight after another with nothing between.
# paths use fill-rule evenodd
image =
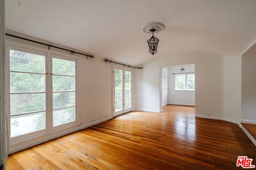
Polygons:
<instances>
[{"instance_id":1,"label":"black wrought-iron lantern pendant with its ornate round ceiling medallion","mask_svg":"<svg viewBox=\"0 0 256 170\"><path fill-rule=\"evenodd\" d=\"M157 45L159 39L154 36L154 33L158 33L164 29L165 25L159 22L151 22L144 26L143 31L145 33L152 33L152 37L147 41L149 47L149 53L154 55L157 53Z\"/></svg>"}]
</instances>

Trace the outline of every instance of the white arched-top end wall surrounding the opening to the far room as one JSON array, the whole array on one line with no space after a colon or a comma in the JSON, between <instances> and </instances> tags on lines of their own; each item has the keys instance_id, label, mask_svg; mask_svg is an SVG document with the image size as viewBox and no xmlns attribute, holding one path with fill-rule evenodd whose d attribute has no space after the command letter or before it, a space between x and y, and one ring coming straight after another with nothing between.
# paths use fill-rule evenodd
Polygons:
<instances>
[{"instance_id":1,"label":"white arched-top end wall surrounding the opening to the far room","mask_svg":"<svg viewBox=\"0 0 256 170\"><path fill-rule=\"evenodd\" d=\"M160 67L195 64L196 116L224 119L239 124L241 57L209 53L178 53L155 58L136 72L136 110L157 111L160 105ZM230 73L234 75L230 76ZM235 84L233 86L233 84ZM234 106L234 104L236 106ZM207 116L210 113L211 116Z\"/></svg>"}]
</instances>

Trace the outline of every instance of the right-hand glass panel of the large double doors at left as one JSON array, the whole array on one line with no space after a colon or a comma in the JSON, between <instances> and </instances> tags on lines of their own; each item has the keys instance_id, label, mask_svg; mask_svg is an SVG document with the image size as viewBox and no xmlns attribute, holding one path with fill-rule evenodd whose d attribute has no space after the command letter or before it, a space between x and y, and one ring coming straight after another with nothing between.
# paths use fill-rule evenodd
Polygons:
<instances>
[{"instance_id":1,"label":"right-hand glass panel of the large double doors at left","mask_svg":"<svg viewBox=\"0 0 256 170\"><path fill-rule=\"evenodd\" d=\"M56 130L76 124L76 62L52 56L52 128Z\"/></svg>"}]
</instances>

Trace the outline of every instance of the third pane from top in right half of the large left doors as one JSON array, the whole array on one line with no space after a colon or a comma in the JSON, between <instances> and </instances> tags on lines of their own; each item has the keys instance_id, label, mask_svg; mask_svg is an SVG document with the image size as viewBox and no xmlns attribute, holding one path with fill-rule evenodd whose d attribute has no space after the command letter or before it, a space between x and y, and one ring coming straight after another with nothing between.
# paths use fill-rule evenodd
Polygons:
<instances>
[{"instance_id":1,"label":"third pane from top in right half of the large left doors","mask_svg":"<svg viewBox=\"0 0 256 170\"><path fill-rule=\"evenodd\" d=\"M75 105L75 92L57 92L52 94L53 109L61 107L70 107Z\"/></svg>"}]
</instances>

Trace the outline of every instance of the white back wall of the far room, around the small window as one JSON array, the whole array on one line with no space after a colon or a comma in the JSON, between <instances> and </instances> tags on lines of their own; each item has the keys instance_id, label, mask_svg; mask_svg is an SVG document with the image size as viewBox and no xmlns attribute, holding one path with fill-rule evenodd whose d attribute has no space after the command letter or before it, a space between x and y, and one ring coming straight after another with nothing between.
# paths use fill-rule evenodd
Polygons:
<instances>
[{"instance_id":1,"label":"white back wall of the far room, around the small window","mask_svg":"<svg viewBox=\"0 0 256 170\"><path fill-rule=\"evenodd\" d=\"M183 65L186 72L195 72L194 64ZM175 74L181 73L181 66L171 66L169 72L169 104L195 106L195 91L194 90L175 90Z\"/></svg>"}]
</instances>

